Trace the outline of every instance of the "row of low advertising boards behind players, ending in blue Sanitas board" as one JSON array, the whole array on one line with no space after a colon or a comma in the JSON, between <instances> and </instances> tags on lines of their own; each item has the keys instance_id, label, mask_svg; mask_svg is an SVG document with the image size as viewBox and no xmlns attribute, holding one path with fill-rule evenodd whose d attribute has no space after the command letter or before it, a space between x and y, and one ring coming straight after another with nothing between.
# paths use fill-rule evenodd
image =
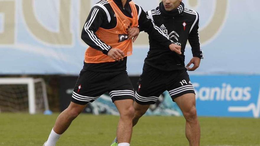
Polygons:
<instances>
[{"instance_id":1,"label":"row of low advertising boards behind players, ending in blue Sanitas board","mask_svg":"<svg viewBox=\"0 0 260 146\"><path fill-rule=\"evenodd\" d=\"M130 77L135 86L139 77ZM260 116L260 76L190 76L196 92L199 116L255 117ZM61 111L69 105L77 77L61 77ZM118 111L108 94L89 103L86 113L114 114ZM180 116L181 110L164 92L150 106L146 115Z\"/></svg>"}]
</instances>

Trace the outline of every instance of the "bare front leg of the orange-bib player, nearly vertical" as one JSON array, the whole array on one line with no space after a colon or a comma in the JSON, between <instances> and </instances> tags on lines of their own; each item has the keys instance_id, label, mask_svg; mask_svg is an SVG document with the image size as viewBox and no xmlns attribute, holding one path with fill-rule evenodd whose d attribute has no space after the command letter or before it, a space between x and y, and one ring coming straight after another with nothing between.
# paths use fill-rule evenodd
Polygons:
<instances>
[{"instance_id":1,"label":"bare front leg of the orange-bib player, nearly vertical","mask_svg":"<svg viewBox=\"0 0 260 146\"><path fill-rule=\"evenodd\" d=\"M117 142L119 143L130 143L132 136L132 119L134 116L134 100L124 99L114 101L119 114L120 119L117 127Z\"/></svg>"}]
</instances>

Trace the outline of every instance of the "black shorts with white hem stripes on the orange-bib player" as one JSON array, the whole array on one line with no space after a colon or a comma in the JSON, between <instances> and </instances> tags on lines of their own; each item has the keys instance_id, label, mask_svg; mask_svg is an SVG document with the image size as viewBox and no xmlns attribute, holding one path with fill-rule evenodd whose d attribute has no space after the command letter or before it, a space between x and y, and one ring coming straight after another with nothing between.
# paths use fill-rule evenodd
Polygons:
<instances>
[{"instance_id":1,"label":"black shorts with white hem stripes on the orange-bib player","mask_svg":"<svg viewBox=\"0 0 260 146\"><path fill-rule=\"evenodd\" d=\"M85 105L106 92L109 92L112 102L121 99L134 100L133 86L126 71L93 72L82 69L71 101Z\"/></svg>"}]
</instances>

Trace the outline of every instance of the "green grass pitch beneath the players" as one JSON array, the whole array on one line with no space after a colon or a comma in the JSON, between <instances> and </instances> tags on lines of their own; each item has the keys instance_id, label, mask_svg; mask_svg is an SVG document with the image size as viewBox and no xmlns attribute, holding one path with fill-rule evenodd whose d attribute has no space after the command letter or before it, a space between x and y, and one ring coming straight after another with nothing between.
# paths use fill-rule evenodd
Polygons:
<instances>
[{"instance_id":1,"label":"green grass pitch beneath the players","mask_svg":"<svg viewBox=\"0 0 260 146\"><path fill-rule=\"evenodd\" d=\"M58 114L0 114L0 146L42 146ZM117 116L81 114L57 146L110 146ZM260 146L260 119L200 117L202 146ZM188 146L183 117L140 119L131 146Z\"/></svg>"}]
</instances>

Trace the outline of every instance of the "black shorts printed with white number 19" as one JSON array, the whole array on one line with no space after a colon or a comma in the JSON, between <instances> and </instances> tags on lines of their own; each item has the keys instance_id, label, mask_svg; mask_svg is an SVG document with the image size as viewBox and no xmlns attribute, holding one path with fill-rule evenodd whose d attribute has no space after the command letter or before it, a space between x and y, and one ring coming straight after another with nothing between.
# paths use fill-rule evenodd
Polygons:
<instances>
[{"instance_id":1,"label":"black shorts printed with white number 19","mask_svg":"<svg viewBox=\"0 0 260 146\"><path fill-rule=\"evenodd\" d=\"M194 93L186 69L163 71L144 64L143 73L137 83L135 101L139 104L155 104L159 96L168 91L174 99L186 93Z\"/></svg>"}]
</instances>

